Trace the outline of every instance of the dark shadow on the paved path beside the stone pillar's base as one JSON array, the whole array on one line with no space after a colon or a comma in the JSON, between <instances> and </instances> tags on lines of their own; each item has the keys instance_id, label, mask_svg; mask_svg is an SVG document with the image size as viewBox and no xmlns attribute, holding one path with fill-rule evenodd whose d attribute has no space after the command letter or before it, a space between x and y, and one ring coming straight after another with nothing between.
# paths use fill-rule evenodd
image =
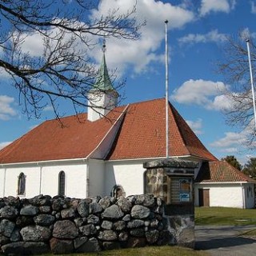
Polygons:
<instances>
[{"instance_id":1,"label":"dark shadow on the paved path beside the stone pillar's base","mask_svg":"<svg viewBox=\"0 0 256 256\"><path fill-rule=\"evenodd\" d=\"M254 239L232 237L232 238L218 238L206 241L198 241L195 243L195 250L210 250L232 246L244 246L255 243Z\"/></svg>"}]
</instances>

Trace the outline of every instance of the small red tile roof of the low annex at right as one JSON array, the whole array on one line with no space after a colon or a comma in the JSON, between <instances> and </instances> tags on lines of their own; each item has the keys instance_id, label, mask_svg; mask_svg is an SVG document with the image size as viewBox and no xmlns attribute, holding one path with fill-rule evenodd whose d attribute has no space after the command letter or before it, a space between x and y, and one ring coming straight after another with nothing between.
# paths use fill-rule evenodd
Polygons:
<instances>
[{"instance_id":1,"label":"small red tile roof of the low annex at right","mask_svg":"<svg viewBox=\"0 0 256 256\"><path fill-rule=\"evenodd\" d=\"M226 161L204 162L195 182L253 182L253 178L243 174Z\"/></svg>"}]
</instances>

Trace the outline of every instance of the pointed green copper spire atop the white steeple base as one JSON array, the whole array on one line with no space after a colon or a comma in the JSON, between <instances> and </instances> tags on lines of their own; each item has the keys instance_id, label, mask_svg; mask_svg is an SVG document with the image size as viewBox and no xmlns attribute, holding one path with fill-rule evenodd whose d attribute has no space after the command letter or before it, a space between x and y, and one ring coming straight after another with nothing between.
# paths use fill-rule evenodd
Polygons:
<instances>
[{"instance_id":1,"label":"pointed green copper spire atop the white steeple base","mask_svg":"<svg viewBox=\"0 0 256 256\"><path fill-rule=\"evenodd\" d=\"M105 58L106 42L105 42L105 39L103 41L102 52L103 52L102 64L98 71L98 79L94 84L94 90L101 90L101 91L114 90L114 87L112 85L112 82L110 81L110 76L109 76L109 73L108 73L107 67L106 67L106 58Z\"/></svg>"}]
</instances>

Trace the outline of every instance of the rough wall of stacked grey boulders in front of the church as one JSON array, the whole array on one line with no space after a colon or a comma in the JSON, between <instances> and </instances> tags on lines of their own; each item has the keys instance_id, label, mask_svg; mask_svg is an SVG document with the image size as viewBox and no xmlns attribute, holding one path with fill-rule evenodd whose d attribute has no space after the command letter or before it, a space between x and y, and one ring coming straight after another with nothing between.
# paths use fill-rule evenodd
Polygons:
<instances>
[{"instance_id":1,"label":"rough wall of stacked grey boulders in front of the church","mask_svg":"<svg viewBox=\"0 0 256 256\"><path fill-rule=\"evenodd\" d=\"M68 254L164 245L164 204L151 194L86 199L0 198L3 254Z\"/></svg>"}]
</instances>

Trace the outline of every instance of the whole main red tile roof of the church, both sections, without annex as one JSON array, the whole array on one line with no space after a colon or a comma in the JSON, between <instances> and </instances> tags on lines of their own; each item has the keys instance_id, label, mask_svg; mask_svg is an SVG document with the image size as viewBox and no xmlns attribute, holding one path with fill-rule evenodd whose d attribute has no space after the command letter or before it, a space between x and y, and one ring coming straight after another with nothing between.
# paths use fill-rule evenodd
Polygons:
<instances>
[{"instance_id":1,"label":"whole main red tile roof of the church, both sections, without annex","mask_svg":"<svg viewBox=\"0 0 256 256\"><path fill-rule=\"evenodd\" d=\"M95 122L87 114L43 122L6 148L0 163L86 158L113 126L125 106ZM107 159L162 158L166 153L165 99L130 104ZM169 106L170 156L216 160L173 106Z\"/></svg>"}]
</instances>

